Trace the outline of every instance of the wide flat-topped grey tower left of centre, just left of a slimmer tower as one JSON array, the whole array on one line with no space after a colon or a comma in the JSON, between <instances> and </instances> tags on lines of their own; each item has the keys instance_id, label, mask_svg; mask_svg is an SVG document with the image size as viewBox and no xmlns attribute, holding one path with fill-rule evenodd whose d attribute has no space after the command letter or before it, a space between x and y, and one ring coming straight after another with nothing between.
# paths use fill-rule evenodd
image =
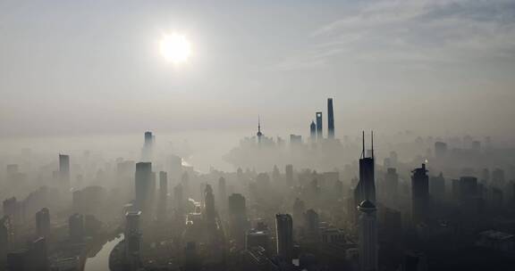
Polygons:
<instances>
[{"instance_id":1,"label":"wide flat-topped grey tower left of centre, just left of a slimmer tower","mask_svg":"<svg viewBox=\"0 0 515 271\"><path fill-rule=\"evenodd\" d=\"M135 205L136 209L145 212L148 207L148 197L152 182L152 163L139 162L136 164L135 174Z\"/></svg>"}]
</instances>

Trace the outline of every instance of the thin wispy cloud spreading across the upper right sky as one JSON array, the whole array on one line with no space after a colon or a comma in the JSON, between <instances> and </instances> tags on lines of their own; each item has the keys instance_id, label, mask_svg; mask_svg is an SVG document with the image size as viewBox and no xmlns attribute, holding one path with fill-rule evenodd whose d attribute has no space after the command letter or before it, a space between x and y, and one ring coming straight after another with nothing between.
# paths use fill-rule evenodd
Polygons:
<instances>
[{"instance_id":1,"label":"thin wispy cloud spreading across the upper right sky","mask_svg":"<svg viewBox=\"0 0 515 271\"><path fill-rule=\"evenodd\" d=\"M419 65L514 58L511 1L377 1L309 35L287 70L346 60ZM329 52L329 53L324 53Z\"/></svg>"}]
</instances>

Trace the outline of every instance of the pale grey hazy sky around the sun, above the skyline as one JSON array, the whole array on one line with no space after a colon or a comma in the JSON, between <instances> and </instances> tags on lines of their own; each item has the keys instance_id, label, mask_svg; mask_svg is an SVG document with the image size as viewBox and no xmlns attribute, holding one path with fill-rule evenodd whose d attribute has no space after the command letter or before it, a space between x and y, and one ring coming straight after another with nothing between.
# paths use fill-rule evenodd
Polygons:
<instances>
[{"instance_id":1,"label":"pale grey hazy sky around the sun, above the skyline","mask_svg":"<svg viewBox=\"0 0 515 271\"><path fill-rule=\"evenodd\" d=\"M0 136L515 132L515 1L190 2L0 0Z\"/></svg>"}]
</instances>

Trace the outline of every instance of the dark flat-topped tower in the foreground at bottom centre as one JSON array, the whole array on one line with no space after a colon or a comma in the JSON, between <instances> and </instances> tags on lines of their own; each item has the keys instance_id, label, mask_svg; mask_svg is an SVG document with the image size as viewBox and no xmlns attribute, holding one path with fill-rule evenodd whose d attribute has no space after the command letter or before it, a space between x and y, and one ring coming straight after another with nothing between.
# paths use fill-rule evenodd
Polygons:
<instances>
[{"instance_id":1,"label":"dark flat-topped tower in the foreground at bottom centre","mask_svg":"<svg viewBox=\"0 0 515 271\"><path fill-rule=\"evenodd\" d=\"M293 220L289 214L275 215L277 256L291 263L293 259Z\"/></svg>"}]
</instances>

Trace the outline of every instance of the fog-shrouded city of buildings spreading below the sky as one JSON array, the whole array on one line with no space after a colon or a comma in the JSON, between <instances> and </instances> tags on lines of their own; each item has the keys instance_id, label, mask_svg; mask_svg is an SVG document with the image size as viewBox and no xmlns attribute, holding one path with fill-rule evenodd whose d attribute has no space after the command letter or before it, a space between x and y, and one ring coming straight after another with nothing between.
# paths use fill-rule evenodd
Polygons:
<instances>
[{"instance_id":1,"label":"fog-shrouded city of buildings spreading below the sky","mask_svg":"<svg viewBox=\"0 0 515 271\"><path fill-rule=\"evenodd\" d=\"M403 161L393 151L379 164L373 132L369 149L365 132L357 146L335 137L332 98L326 137L315 116L308 142L291 135L287 152L258 120L256 136L231 152L232 172L156 157L151 132L138 160L59 154L39 178L9 164L8 184L38 185L3 199L0 266L90 271L90 255L108 254L113 271L512 267L515 152L437 140L432 153ZM470 255L482 261L462 260Z\"/></svg>"}]
</instances>

